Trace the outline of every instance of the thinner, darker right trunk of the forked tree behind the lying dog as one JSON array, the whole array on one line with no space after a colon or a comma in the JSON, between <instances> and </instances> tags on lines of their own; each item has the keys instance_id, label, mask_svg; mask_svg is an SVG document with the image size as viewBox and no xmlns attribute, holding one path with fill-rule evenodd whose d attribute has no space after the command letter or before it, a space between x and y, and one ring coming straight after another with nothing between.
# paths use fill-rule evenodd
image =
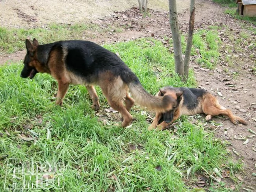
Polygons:
<instances>
[{"instance_id":1,"label":"thinner, darker right trunk of the forked tree behind the lying dog","mask_svg":"<svg viewBox=\"0 0 256 192\"><path fill-rule=\"evenodd\" d=\"M188 79L189 77L189 61L192 47L193 33L195 24L195 0L190 0L190 17L189 17L189 33L187 36L187 47L184 59L184 75Z\"/></svg>"}]
</instances>

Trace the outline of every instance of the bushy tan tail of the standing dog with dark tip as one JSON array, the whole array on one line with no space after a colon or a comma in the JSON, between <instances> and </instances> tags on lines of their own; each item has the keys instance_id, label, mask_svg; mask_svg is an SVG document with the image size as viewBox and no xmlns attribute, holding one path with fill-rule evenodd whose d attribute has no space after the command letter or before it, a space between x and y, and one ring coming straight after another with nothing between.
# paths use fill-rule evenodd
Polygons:
<instances>
[{"instance_id":1,"label":"bushy tan tail of the standing dog with dark tip","mask_svg":"<svg viewBox=\"0 0 256 192\"><path fill-rule=\"evenodd\" d=\"M172 98L170 96L153 96L149 94L138 82L130 82L128 84L128 87L130 89L130 92L132 93L134 100L139 105L162 113L170 110L169 108L172 101Z\"/></svg>"}]
</instances>

